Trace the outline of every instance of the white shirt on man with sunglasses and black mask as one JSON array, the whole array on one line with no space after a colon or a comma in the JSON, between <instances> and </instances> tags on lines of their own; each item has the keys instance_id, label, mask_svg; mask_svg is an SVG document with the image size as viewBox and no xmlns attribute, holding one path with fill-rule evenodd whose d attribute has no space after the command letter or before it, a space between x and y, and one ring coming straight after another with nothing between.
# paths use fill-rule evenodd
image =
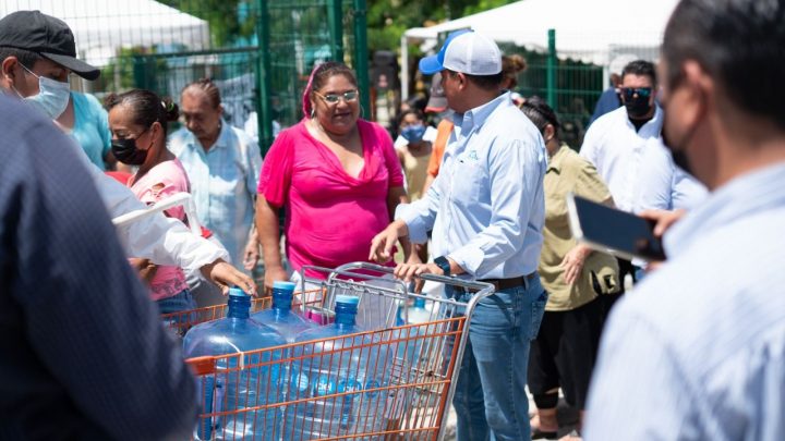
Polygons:
<instances>
[{"instance_id":1,"label":"white shirt on man with sunglasses and black mask","mask_svg":"<svg viewBox=\"0 0 785 441\"><path fill-rule=\"evenodd\" d=\"M660 179L661 174L671 176L672 164L666 157L654 152L650 158L655 159L653 162L644 160L649 142L660 137L662 122L663 111L657 106L654 117L636 131L627 108L620 107L600 117L587 131L580 156L594 164L621 210L632 212L641 208L639 197L647 185L641 181L644 171Z\"/></svg>"}]
</instances>

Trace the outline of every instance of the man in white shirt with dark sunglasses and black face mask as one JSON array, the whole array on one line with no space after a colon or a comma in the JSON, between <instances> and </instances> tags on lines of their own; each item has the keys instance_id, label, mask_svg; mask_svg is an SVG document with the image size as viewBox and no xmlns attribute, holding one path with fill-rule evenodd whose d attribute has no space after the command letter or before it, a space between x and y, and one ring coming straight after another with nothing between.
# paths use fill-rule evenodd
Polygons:
<instances>
[{"instance_id":1,"label":"man in white shirt with dark sunglasses and black face mask","mask_svg":"<svg viewBox=\"0 0 785 441\"><path fill-rule=\"evenodd\" d=\"M654 64L645 60L628 63L621 72L624 106L594 121L580 149L580 155L596 167L607 184L616 207L625 211L663 208L641 206L642 194L650 187L641 176L673 173L664 149L647 151L653 148L650 142L656 142L662 131L663 111L656 101L656 90ZM671 193L669 185L665 191ZM619 259L619 270L621 280L626 274L636 280L638 268L629 260ZM603 297L607 307L619 295Z\"/></svg>"}]
</instances>

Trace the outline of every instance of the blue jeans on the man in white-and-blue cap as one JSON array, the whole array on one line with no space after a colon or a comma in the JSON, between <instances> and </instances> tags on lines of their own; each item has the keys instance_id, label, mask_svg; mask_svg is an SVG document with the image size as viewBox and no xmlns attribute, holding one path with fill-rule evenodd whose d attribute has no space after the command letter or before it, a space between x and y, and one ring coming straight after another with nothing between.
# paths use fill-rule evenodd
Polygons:
<instances>
[{"instance_id":1,"label":"blue jeans on the man in white-and-blue cap","mask_svg":"<svg viewBox=\"0 0 785 441\"><path fill-rule=\"evenodd\" d=\"M503 290L481 301L469 327L469 341L452 405L458 441L531 439L526 394L530 342L536 338L547 293L540 278L528 286ZM447 287L468 302L471 294Z\"/></svg>"}]
</instances>

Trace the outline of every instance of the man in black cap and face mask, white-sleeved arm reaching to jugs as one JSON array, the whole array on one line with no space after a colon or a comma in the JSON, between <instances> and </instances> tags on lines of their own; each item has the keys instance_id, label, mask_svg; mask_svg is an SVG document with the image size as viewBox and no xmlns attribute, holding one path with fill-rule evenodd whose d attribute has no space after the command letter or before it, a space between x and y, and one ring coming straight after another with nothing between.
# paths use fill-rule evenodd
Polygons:
<instances>
[{"instance_id":1,"label":"man in black cap and face mask, white-sleeved arm reaching to jugs","mask_svg":"<svg viewBox=\"0 0 785 441\"><path fill-rule=\"evenodd\" d=\"M0 93L21 98L48 119L57 119L68 106L69 74L96 79L100 71L76 59L76 45L69 26L39 11L17 11L0 20ZM76 144L64 144L80 151ZM110 216L143 209L131 191L88 164L87 170ZM225 249L192 234L177 219L156 215L119 228L129 256L145 257L159 265L177 265L197 272L221 286L239 285L254 292L251 278L225 261Z\"/></svg>"}]
</instances>

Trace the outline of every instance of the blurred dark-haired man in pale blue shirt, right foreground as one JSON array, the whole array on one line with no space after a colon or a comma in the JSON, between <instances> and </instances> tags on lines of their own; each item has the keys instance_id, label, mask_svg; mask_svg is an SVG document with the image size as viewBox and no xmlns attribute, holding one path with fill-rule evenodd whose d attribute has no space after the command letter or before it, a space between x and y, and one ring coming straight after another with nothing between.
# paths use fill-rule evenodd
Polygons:
<instances>
[{"instance_id":1,"label":"blurred dark-haired man in pale blue shirt, right foreground","mask_svg":"<svg viewBox=\"0 0 785 441\"><path fill-rule=\"evenodd\" d=\"M665 144L711 194L612 315L587 440L784 438L783 23L784 0L683 0L668 21Z\"/></svg>"}]
</instances>

